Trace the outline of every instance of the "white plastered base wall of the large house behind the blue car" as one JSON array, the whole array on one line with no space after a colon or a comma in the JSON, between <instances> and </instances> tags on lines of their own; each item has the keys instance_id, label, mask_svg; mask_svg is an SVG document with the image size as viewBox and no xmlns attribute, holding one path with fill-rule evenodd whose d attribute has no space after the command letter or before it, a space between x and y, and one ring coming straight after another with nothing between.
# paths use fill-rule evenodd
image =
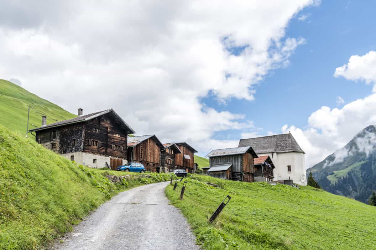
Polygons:
<instances>
[{"instance_id":1,"label":"white plastered base wall of the large house behind the blue car","mask_svg":"<svg viewBox=\"0 0 376 250\"><path fill-rule=\"evenodd\" d=\"M78 164L89 166L90 168L105 168L106 162L110 165L110 157L100 156L97 154L89 154L83 152L75 152L70 154L62 154L62 156L67 159L71 159L71 156L74 156L74 161ZM97 160L97 163L94 163L94 159ZM123 165L127 164L127 160L123 159Z\"/></svg>"}]
</instances>

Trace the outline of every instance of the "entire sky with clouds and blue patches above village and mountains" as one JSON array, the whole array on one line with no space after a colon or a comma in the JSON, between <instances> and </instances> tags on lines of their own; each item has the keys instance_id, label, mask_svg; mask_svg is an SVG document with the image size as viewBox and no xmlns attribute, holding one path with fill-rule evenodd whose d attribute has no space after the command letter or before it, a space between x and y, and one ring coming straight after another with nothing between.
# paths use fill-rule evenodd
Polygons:
<instances>
[{"instance_id":1,"label":"entire sky with clouds and blue patches above village and mountains","mask_svg":"<svg viewBox=\"0 0 376 250\"><path fill-rule=\"evenodd\" d=\"M309 167L376 124L374 1L0 6L0 78L200 156L291 132Z\"/></svg>"}]
</instances>

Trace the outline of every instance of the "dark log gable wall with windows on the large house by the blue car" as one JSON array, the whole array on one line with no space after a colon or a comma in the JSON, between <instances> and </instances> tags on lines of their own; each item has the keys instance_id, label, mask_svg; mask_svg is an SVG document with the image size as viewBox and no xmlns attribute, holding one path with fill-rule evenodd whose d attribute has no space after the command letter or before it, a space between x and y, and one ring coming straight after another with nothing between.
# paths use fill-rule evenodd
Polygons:
<instances>
[{"instance_id":1,"label":"dark log gable wall with windows on the large house by the blue car","mask_svg":"<svg viewBox=\"0 0 376 250\"><path fill-rule=\"evenodd\" d=\"M127 159L127 133L109 115L85 123L84 152Z\"/></svg>"}]
</instances>

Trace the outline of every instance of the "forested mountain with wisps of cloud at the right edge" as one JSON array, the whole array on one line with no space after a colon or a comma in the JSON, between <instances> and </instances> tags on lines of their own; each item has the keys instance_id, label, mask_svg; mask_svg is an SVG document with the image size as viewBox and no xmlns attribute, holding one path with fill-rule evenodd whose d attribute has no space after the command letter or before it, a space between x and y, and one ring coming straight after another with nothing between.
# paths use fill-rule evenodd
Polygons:
<instances>
[{"instance_id":1,"label":"forested mountain with wisps of cloud at the right edge","mask_svg":"<svg viewBox=\"0 0 376 250\"><path fill-rule=\"evenodd\" d=\"M309 172L323 189L367 203L376 190L376 126L363 129Z\"/></svg>"}]
</instances>

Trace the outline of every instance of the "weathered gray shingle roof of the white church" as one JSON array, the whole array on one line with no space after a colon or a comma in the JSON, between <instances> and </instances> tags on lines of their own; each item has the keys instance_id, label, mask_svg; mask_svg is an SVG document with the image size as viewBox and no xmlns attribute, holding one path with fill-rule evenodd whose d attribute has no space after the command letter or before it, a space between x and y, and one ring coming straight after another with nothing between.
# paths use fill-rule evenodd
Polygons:
<instances>
[{"instance_id":1,"label":"weathered gray shingle roof of the white church","mask_svg":"<svg viewBox=\"0 0 376 250\"><path fill-rule=\"evenodd\" d=\"M239 147L252 146L256 154L302 152L305 153L295 141L291 133L271 135L257 138L241 139Z\"/></svg>"}]
</instances>

